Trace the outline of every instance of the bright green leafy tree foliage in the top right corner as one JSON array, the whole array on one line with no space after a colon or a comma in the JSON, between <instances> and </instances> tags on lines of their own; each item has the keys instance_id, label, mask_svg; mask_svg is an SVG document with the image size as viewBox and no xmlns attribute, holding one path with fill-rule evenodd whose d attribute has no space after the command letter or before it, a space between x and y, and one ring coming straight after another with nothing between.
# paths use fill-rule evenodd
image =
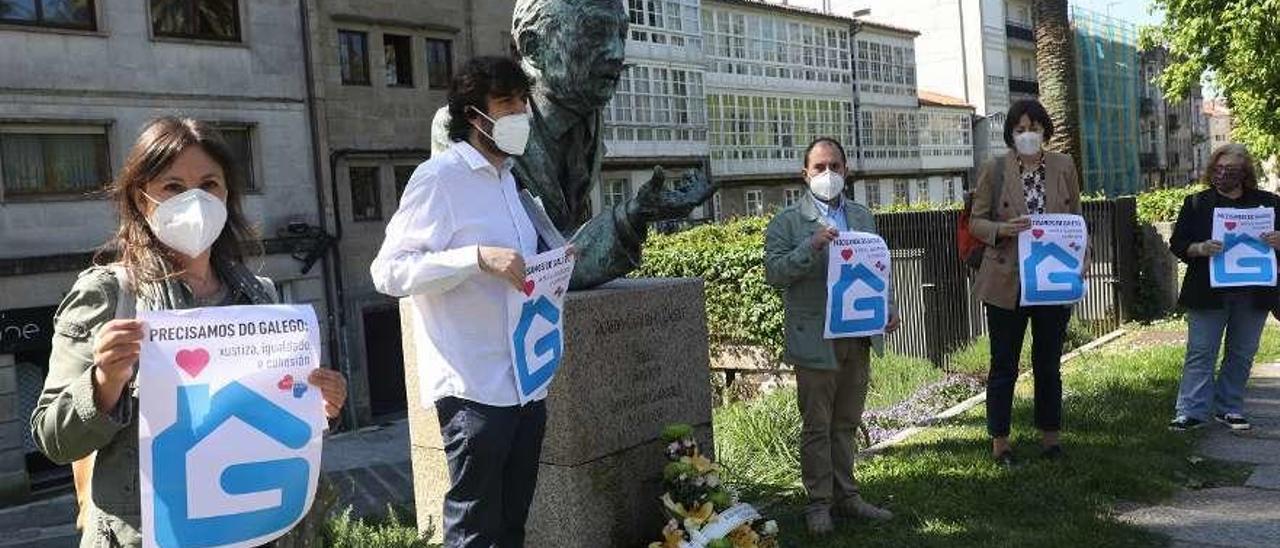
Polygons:
<instances>
[{"instance_id":1,"label":"bright green leafy tree foliage in the top right corner","mask_svg":"<svg viewBox=\"0 0 1280 548\"><path fill-rule=\"evenodd\" d=\"M1142 44L1169 49L1156 79L1165 95L1185 97L1208 74L1231 106L1233 138L1258 157L1280 154L1280 0L1153 4L1165 20L1144 28Z\"/></svg>"}]
</instances>

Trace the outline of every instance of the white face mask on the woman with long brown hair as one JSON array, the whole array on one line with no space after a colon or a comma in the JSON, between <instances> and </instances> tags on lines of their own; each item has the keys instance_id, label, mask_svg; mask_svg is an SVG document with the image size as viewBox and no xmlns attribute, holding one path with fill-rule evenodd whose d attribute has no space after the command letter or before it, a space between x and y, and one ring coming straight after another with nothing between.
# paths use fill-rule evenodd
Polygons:
<instances>
[{"instance_id":1,"label":"white face mask on the woman with long brown hair","mask_svg":"<svg viewBox=\"0 0 1280 548\"><path fill-rule=\"evenodd\" d=\"M188 257L196 257L214 246L227 224L227 205L218 196L192 188L165 201L156 201L147 225L160 242Z\"/></svg>"}]
</instances>

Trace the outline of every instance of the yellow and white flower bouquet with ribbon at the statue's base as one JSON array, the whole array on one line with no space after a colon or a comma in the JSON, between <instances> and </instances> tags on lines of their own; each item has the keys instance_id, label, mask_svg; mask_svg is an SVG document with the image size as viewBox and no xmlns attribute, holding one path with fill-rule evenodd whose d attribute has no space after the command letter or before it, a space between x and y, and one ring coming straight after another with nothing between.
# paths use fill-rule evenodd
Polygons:
<instances>
[{"instance_id":1,"label":"yellow and white flower bouquet with ribbon at the statue's base","mask_svg":"<svg viewBox=\"0 0 1280 548\"><path fill-rule=\"evenodd\" d=\"M662 471L668 521L662 540L649 548L777 548L777 522L739 502L721 481L719 466L698 449L692 426L669 425L662 440L669 461Z\"/></svg>"}]
</instances>

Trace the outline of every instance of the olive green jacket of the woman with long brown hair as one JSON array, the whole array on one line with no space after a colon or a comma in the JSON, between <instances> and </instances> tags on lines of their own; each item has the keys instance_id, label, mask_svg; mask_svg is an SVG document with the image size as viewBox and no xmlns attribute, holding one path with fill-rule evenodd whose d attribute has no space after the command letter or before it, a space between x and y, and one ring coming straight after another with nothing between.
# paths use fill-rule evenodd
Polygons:
<instances>
[{"instance_id":1,"label":"olive green jacket of the woman with long brown hair","mask_svg":"<svg viewBox=\"0 0 1280 548\"><path fill-rule=\"evenodd\" d=\"M276 300L270 280L257 282ZM253 302L247 291L233 292L232 302ZM109 268L95 266L79 274L54 315L49 376L31 415L32 437L54 462L70 463L97 452L82 548L142 545L137 384L129 383L132 397L120 398L111 412L99 411L93 402L93 346L102 325L115 319L119 296L119 283Z\"/></svg>"}]
</instances>

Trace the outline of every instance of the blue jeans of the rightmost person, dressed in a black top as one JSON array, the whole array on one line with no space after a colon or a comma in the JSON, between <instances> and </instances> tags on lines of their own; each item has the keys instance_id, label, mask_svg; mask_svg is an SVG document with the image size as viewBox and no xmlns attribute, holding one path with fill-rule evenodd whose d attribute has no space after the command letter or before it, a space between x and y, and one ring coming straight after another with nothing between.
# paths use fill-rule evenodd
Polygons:
<instances>
[{"instance_id":1,"label":"blue jeans of the rightmost person, dressed in a black top","mask_svg":"<svg viewBox=\"0 0 1280 548\"><path fill-rule=\"evenodd\" d=\"M1253 307L1248 292L1222 297L1221 309L1192 310L1187 319L1187 361L1178 387L1176 415L1208 420L1210 412L1243 414L1244 385L1267 321L1267 311ZM1213 379L1217 350L1226 332L1226 355ZM1212 406L1210 405L1212 403Z\"/></svg>"}]
</instances>

